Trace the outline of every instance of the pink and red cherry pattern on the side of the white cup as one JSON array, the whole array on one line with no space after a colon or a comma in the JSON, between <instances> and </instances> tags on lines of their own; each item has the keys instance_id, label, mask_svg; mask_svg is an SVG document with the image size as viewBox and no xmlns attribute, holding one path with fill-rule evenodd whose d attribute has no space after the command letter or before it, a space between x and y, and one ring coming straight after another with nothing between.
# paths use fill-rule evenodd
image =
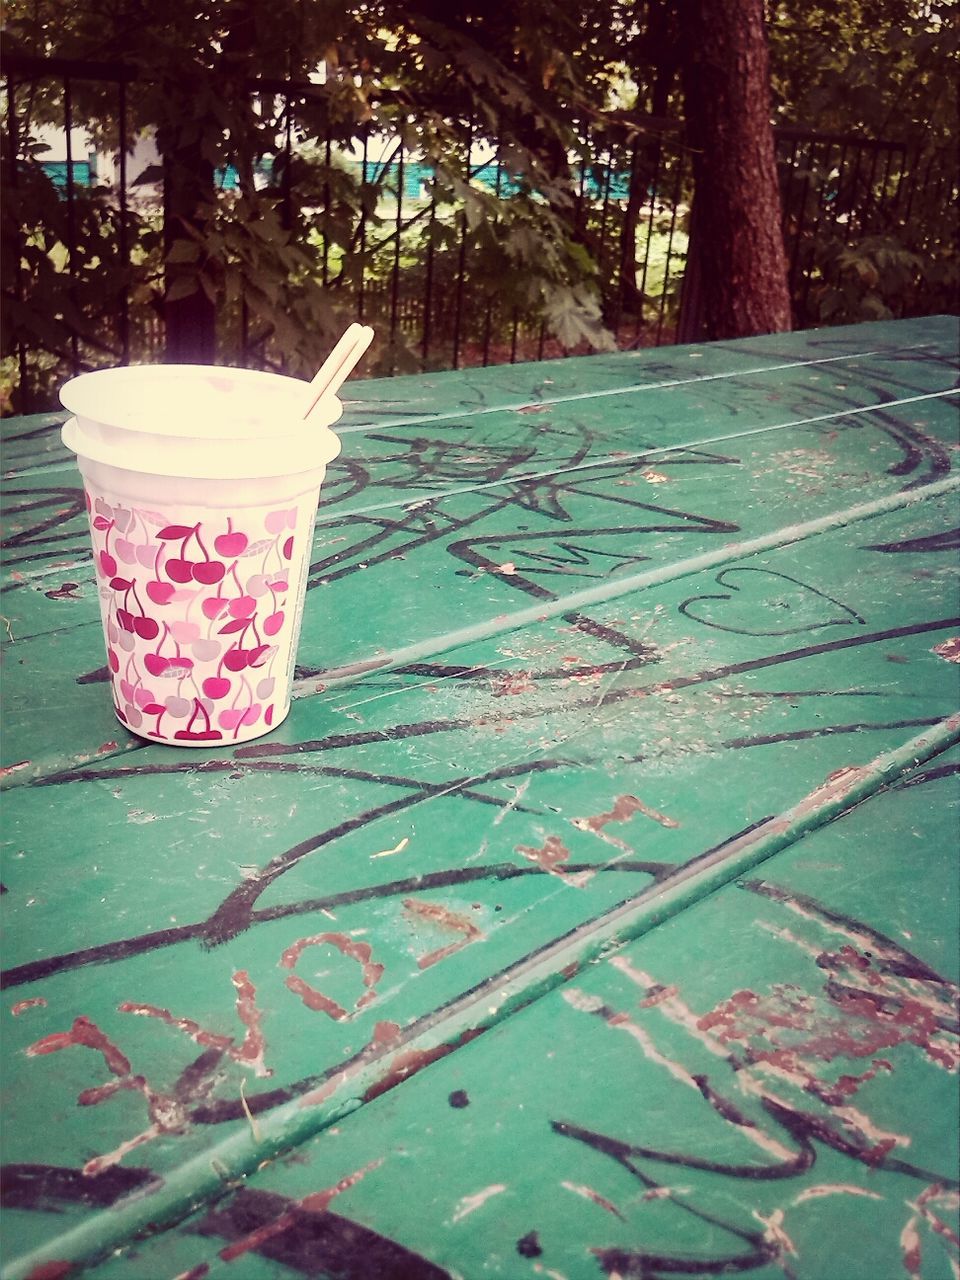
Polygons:
<instances>
[{"instance_id":1,"label":"pink and red cherry pattern on the side of the white cup","mask_svg":"<svg viewBox=\"0 0 960 1280\"><path fill-rule=\"evenodd\" d=\"M247 512L241 527L84 497L119 719L165 742L269 728L298 508Z\"/></svg>"}]
</instances>

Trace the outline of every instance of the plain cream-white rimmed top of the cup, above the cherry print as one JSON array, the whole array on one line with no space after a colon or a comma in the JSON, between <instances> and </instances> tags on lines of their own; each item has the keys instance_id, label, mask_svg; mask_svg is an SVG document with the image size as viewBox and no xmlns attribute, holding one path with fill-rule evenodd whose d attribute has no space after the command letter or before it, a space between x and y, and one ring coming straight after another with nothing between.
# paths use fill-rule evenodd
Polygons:
<instances>
[{"instance_id":1,"label":"plain cream-white rimmed top of the cup, above the cherry print","mask_svg":"<svg viewBox=\"0 0 960 1280\"><path fill-rule=\"evenodd\" d=\"M60 401L67 448L150 475L244 479L297 475L340 451L329 430L337 397L303 420L308 384L282 374L212 365L131 365L81 374Z\"/></svg>"}]
</instances>

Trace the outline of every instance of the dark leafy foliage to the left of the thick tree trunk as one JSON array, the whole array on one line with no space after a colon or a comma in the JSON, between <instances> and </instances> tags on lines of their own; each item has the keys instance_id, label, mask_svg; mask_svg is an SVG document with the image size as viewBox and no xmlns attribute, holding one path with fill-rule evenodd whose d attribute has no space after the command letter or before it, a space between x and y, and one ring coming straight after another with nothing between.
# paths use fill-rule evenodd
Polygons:
<instances>
[{"instance_id":1,"label":"dark leafy foliage to the left of the thick tree trunk","mask_svg":"<svg viewBox=\"0 0 960 1280\"><path fill-rule=\"evenodd\" d=\"M366 237L370 282L389 271L384 184L348 173L338 160L364 136L401 137L433 166L438 205L463 219L474 275L483 262L488 279L508 282L512 305L538 310L561 340L609 344L595 264L571 220L567 160L577 146L577 104L596 111L607 92L609 13L600 0L576 19L553 0L516 10L476 4L454 18L443 17L430 0L351 8L328 0L269 6L173 0L163 8L141 0L93 0L82 8L64 0L13 0L5 50L122 63L133 77L125 87L131 138L155 136L168 172L178 163L192 172L196 189L187 211L168 218L163 244L156 237L145 244L148 270L134 273L137 316L202 293L220 308L219 358L246 358L252 348L268 362L308 372L343 312L356 306L360 234ZM325 82L293 100L289 115L283 97L252 91L252 78L306 79L321 63ZM99 143L115 151L116 87L74 79L72 95L74 119L92 125ZM63 262L40 261L51 236L68 243L64 200L40 169L31 142L36 125L61 120L61 84L38 81L28 99L22 87L17 109L24 142L15 183L5 156L8 189L15 195L8 201L4 238L26 268L6 274L6 349L40 343L67 360L76 332L82 362L116 358L120 338L109 317L132 279L119 266L115 212L100 221L108 193L74 192L76 250L65 291ZM467 180L471 134L498 138L517 187L509 200L497 201ZM285 156L288 137L292 157ZM264 161L273 161L266 186L256 179ZM201 170L228 166L239 175L237 193L216 192L210 183L202 188ZM422 233L422 209L406 221ZM317 223L320 243L310 234ZM143 221L132 218L128 238L140 242L143 230ZM105 239L109 252L100 243ZM371 253L370 243L380 251ZM421 236L421 261L426 248ZM324 257L339 259L346 270L324 280ZM113 274L97 275L96 264L108 261L115 264ZM56 301L61 297L63 305ZM134 323L134 335L136 329ZM402 355L383 351L381 358L393 366Z\"/></svg>"}]
</instances>

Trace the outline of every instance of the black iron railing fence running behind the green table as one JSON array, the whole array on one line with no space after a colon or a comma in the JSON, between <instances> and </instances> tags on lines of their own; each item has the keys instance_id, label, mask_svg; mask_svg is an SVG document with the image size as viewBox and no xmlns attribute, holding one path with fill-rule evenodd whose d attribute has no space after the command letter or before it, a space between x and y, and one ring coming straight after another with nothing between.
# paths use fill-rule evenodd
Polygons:
<instances>
[{"instance_id":1,"label":"black iron railing fence running behind the green table","mask_svg":"<svg viewBox=\"0 0 960 1280\"><path fill-rule=\"evenodd\" d=\"M577 317L590 298L594 333L621 347L698 332L676 120L576 129L544 196L474 119L447 119L438 156L387 97L374 123L344 125L328 86L260 79L250 93L269 146L253 164L210 166L210 205L191 225L189 157L160 156L138 132L133 72L12 55L0 69L4 412L49 407L72 372L164 355L308 372L352 319L376 328L375 372L589 349ZM925 264L956 196L942 152L781 128L777 156L799 326L936 307ZM559 188L550 225L572 250L566 274L544 274L538 210Z\"/></svg>"}]
</instances>

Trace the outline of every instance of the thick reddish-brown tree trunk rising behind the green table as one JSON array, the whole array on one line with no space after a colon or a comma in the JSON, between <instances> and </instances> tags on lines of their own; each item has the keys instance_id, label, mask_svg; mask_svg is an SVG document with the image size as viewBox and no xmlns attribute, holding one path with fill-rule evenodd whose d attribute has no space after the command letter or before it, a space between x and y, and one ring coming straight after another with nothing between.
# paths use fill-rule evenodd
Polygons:
<instances>
[{"instance_id":1,"label":"thick reddish-brown tree trunk rising behind the green table","mask_svg":"<svg viewBox=\"0 0 960 1280\"><path fill-rule=\"evenodd\" d=\"M681 15L698 328L710 339L778 333L791 308L763 0L681 0Z\"/></svg>"}]
</instances>

